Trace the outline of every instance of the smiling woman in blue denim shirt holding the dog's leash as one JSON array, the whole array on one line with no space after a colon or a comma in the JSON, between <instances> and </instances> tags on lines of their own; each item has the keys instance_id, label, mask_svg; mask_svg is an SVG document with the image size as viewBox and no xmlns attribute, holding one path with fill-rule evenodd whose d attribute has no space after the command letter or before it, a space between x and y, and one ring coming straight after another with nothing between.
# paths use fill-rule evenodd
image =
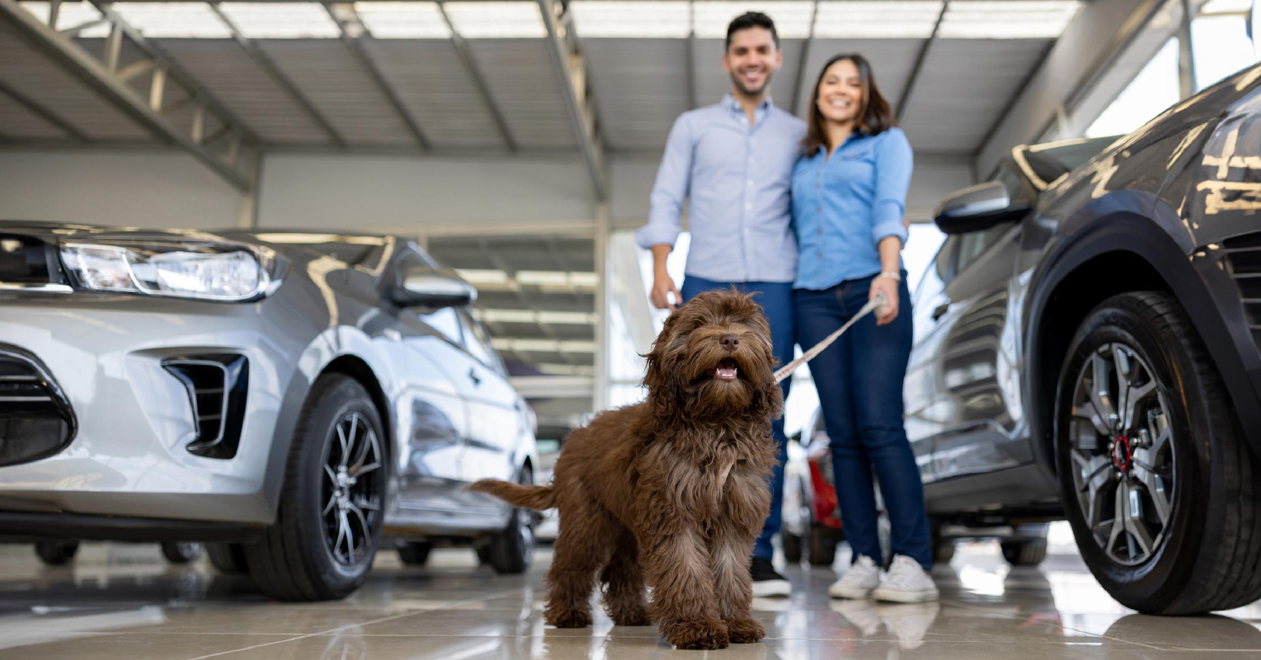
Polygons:
<instances>
[{"instance_id":1,"label":"smiling woman in blue denim shirt holding the dog's leash","mask_svg":"<svg viewBox=\"0 0 1261 660\"><path fill-rule=\"evenodd\" d=\"M902 385L910 358L910 293L902 246L912 154L905 134L857 54L823 65L812 96L805 151L792 179L799 246L793 282L797 343L812 346L883 293L810 361L831 437L832 474L854 550L834 597L897 602L937 598L919 467L903 426ZM880 579L873 471L892 524L893 562Z\"/></svg>"}]
</instances>

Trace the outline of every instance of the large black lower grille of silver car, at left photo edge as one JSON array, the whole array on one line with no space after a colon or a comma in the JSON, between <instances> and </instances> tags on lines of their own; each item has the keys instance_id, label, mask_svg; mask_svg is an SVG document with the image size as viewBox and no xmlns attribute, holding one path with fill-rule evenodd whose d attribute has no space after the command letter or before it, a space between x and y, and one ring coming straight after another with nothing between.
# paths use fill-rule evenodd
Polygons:
<instances>
[{"instance_id":1,"label":"large black lower grille of silver car, at left photo edge","mask_svg":"<svg viewBox=\"0 0 1261 660\"><path fill-rule=\"evenodd\" d=\"M0 465L52 456L74 438L69 403L33 356L0 345Z\"/></svg>"}]
</instances>

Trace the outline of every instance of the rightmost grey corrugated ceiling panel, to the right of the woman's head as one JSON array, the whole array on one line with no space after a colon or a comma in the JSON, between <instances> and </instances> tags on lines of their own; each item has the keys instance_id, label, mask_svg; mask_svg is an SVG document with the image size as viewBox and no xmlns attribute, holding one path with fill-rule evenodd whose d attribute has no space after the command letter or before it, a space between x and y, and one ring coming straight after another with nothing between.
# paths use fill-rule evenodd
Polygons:
<instances>
[{"instance_id":1,"label":"rightmost grey corrugated ceiling panel, to the right of the woman's head","mask_svg":"<svg viewBox=\"0 0 1261 660\"><path fill-rule=\"evenodd\" d=\"M1050 40L941 39L910 93L902 126L915 149L975 151Z\"/></svg>"}]
</instances>

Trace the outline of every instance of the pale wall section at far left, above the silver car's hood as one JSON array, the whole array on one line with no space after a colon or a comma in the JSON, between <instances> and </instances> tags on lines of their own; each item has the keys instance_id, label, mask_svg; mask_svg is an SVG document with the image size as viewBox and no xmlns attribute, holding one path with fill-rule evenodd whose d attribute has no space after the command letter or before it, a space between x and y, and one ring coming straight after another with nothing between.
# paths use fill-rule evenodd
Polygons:
<instances>
[{"instance_id":1,"label":"pale wall section at far left, above the silver car's hood","mask_svg":"<svg viewBox=\"0 0 1261 660\"><path fill-rule=\"evenodd\" d=\"M0 219L219 229L241 203L182 152L0 151Z\"/></svg>"}]
</instances>

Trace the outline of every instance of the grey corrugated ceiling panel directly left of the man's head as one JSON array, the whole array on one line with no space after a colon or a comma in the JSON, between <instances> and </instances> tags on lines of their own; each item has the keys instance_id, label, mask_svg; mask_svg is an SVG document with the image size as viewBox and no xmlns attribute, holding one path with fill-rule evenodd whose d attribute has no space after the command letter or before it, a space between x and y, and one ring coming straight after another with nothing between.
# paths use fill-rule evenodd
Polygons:
<instances>
[{"instance_id":1,"label":"grey corrugated ceiling panel directly left of the man's head","mask_svg":"<svg viewBox=\"0 0 1261 660\"><path fill-rule=\"evenodd\" d=\"M657 151L675 118L691 107L682 39L586 39L593 93L604 144Z\"/></svg>"}]
</instances>

